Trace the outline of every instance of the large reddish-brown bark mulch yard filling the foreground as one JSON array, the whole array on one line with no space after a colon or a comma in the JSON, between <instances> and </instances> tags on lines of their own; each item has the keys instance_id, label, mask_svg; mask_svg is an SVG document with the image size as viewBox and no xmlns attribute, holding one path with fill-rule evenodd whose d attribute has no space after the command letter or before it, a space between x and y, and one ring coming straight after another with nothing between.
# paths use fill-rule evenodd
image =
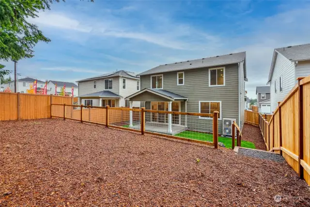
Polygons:
<instances>
[{"instance_id":1,"label":"large reddish-brown bark mulch yard filling the foreground","mask_svg":"<svg viewBox=\"0 0 310 207\"><path fill-rule=\"evenodd\" d=\"M0 206L310 206L309 197L286 163L231 149L69 120L0 122Z\"/></svg>"}]
</instances>

